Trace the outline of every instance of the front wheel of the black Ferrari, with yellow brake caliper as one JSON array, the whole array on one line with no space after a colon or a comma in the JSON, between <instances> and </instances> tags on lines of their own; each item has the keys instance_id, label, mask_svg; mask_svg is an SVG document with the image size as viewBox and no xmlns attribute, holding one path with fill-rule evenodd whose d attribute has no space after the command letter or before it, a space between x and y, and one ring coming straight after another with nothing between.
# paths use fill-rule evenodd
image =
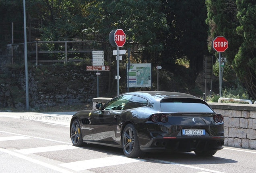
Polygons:
<instances>
[{"instance_id":1,"label":"front wheel of the black Ferrari, with yellow brake caliper","mask_svg":"<svg viewBox=\"0 0 256 173\"><path fill-rule=\"evenodd\" d=\"M81 127L78 119L75 119L70 127L70 138L74 146L81 147L83 145Z\"/></svg>"}]
</instances>

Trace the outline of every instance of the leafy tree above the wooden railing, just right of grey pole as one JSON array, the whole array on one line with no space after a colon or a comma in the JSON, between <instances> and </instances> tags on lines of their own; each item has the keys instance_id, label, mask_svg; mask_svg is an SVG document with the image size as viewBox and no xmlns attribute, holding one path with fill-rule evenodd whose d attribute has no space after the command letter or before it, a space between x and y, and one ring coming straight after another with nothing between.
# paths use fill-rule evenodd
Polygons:
<instances>
[{"instance_id":1,"label":"leafy tree above the wooden railing, just right of grey pole","mask_svg":"<svg viewBox=\"0 0 256 173\"><path fill-rule=\"evenodd\" d=\"M43 21L43 40L82 37L88 15L86 0L31 0L28 4L30 15Z\"/></svg>"}]
</instances>

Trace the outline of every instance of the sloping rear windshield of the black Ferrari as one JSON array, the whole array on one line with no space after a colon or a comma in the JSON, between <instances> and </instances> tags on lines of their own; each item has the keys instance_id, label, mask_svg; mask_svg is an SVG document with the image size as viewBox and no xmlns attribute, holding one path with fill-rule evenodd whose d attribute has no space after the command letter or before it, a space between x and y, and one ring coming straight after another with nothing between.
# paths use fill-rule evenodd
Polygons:
<instances>
[{"instance_id":1,"label":"sloping rear windshield of the black Ferrari","mask_svg":"<svg viewBox=\"0 0 256 173\"><path fill-rule=\"evenodd\" d=\"M163 99L162 112L213 113L213 110L199 99Z\"/></svg>"}]
</instances>

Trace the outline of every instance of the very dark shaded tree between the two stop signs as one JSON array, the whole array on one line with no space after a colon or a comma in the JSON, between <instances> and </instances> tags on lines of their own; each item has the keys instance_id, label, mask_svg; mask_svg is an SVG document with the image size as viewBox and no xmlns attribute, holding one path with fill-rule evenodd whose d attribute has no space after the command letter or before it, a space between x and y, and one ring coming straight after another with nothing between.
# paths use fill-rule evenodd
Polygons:
<instances>
[{"instance_id":1,"label":"very dark shaded tree between the two stop signs","mask_svg":"<svg viewBox=\"0 0 256 173\"><path fill-rule=\"evenodd\" d=\"M163 11L170 29L163 34L165 66L175 62L176 58L186 57L190 63L190 81L192 86L203 68L203 56L207 52L207 17L205 0L163 1Z\"/></svg>"}]
</instances>

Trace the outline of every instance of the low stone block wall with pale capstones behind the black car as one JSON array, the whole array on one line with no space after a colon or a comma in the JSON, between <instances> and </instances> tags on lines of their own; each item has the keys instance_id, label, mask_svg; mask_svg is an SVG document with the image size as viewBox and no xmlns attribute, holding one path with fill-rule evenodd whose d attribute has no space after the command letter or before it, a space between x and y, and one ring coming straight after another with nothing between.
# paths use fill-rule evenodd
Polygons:
<instances>
[{"instance_id":1,"label":"low stone block wall with pale capstones behind the black car","mask_svg":"<svg viewBox=\"0 0 256 173\"><path fill-rule=\"evenodd\" d=\"M111 98L94 98L93 109L97 103L105 104ZM256 105L236 103L208 103L216 113L224 117L224 145L256 149Z\"/></svg>"}]
</instances>

